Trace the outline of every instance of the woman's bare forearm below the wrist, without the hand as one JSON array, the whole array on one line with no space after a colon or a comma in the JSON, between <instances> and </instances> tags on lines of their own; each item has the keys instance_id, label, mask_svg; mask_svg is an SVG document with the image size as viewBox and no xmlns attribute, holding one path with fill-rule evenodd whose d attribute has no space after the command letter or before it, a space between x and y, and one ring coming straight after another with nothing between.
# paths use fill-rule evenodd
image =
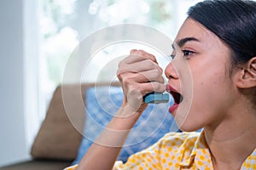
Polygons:
<instances>
[{"instance_id":1,"label":"woman's bare forearm below the wrist, without the hand","mask_svg":"<svg viewBox=\"0 0 256 170\"><path fill-rule=\"evenodd\" d=\"M125 139L140 114L121 108L95 143L90 146L79 163L79 169L112 169Z\"/></svg>"}]
</instances>

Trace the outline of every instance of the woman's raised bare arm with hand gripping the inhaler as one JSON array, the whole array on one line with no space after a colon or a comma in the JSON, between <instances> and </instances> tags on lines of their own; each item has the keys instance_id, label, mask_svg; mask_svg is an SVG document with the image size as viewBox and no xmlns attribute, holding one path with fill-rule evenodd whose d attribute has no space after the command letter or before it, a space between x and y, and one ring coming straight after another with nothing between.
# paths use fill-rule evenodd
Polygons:
<instances>
[{"instance_id":1,"label":"woman's raised bare arm with hand gripping the inhaler","mask_svg":"<svg viewBox=\"0 0 256 170\"><path fill-rule=\"evenodd\" d=\"M123 105L86 152L79 169L111 169L131 128L147 107L143 96L166 89L156 59L142 50L131 50L119 63L117 75L125 96Z\"/></svg>"}]
</instances>

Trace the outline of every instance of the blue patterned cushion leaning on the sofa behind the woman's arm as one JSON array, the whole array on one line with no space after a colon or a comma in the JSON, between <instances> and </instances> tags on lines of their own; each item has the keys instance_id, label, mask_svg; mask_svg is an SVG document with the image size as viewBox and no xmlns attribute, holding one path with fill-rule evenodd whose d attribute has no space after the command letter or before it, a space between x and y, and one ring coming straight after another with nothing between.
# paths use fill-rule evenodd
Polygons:
<instances>
[{"instance_id":1,"label":"blue patterned cushion leaning on the sofa behind the woman's arm","mask_svg":"<svg viewBox=\"0 0 256 170\"><path fill-rule=\"evenodd\" d=\"M84 138L73 164L79 163L90 144L102 133L104 127L108 125L113 115L119 110L123 98L124 95L120 87L96 87L86 90L85 105L87 115L85 116ZM177 131L173 117L168 112L169 105L148 105L148 108L132 128L124 147L119 153L118 160L125 162L131 154L154 144L165 133L171 130Z\"/></svg>"}]
</instances>

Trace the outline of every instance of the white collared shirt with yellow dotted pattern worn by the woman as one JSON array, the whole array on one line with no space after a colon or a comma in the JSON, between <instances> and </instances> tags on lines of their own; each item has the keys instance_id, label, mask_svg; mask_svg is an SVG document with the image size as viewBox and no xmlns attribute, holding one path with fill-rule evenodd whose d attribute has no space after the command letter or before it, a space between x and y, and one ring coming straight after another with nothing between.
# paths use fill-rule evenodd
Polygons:
<instances>
[{"instance_id":1,"label":"white collared shirt with yellow dotted pattern worn by the woman","mask_svg":"<svg viewBox=\"0 0 256 170\"><path fill-rule=\"evenodd\" d=\"M67 167L74 170L77 166ZM124 164L116 161L119 169L213 169L210 150L201 133L167 133L156 144L129 157ZM241 170L256 169L256 149L243 162Z\"/></svg>"}]
</instances>

